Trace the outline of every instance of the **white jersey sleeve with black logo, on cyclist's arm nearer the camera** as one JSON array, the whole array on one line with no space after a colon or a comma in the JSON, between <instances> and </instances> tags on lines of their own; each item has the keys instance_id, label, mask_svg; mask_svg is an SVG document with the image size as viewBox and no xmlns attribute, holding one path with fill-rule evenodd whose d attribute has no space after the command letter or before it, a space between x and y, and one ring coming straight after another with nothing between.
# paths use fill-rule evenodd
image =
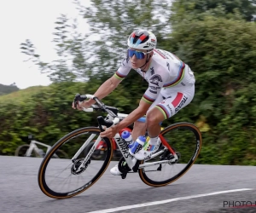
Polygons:
<instances>
[{"instance_id":1,"label":"white jersey sleeve with black logo, on cyclist's arm nearer the camera","mask_svg":"<svg viewBox=\"0 0 256 213\"><path fill-rule=\"evenodd\" d=\"M152 104L158 95L160 95L160 90L164 86L166 79L168 78L168 73L164 70L156 72L148 81L148 89L143 95L143 101L148 104Z\"/></svg>"}]
</instances>

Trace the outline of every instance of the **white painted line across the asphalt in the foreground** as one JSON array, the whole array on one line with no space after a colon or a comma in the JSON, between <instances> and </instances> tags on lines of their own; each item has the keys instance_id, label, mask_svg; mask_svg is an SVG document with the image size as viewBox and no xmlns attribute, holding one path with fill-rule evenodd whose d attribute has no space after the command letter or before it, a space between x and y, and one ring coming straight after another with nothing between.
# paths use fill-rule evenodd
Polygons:
<instances>
[{"instance_id":1,"label":"white painted line across the asphalt in the foreground","mask_svg":"<svg viewBox=\"0 0 256 213\"><path fill-rule=\"evenodd\" d=\"M141 207L145 207L145 206L148 207L149 205L167 204L167 203L184 200L184 199L195 199L195 198L207 197L207 196L212 196L212 195L221 194L221 193L236 193L236 192L247 191L247 190L253 190L253 188L240 188L240 189L220 191L220 192L215 192L215 193L201 193L201 194L195 194L195 195L181 197L181 198L177 198L177 199L165 199L165 200L160 200L160 201L148 202L148 203L144 203L144 204L131 204L131 205L120 206L120 207L107 209L107 210L90 211L87 213L109 213L109 212L115 212L115 211L119 211L119 210L131 210L131 209L141 208Z\"/></svg>"}]
</instances>

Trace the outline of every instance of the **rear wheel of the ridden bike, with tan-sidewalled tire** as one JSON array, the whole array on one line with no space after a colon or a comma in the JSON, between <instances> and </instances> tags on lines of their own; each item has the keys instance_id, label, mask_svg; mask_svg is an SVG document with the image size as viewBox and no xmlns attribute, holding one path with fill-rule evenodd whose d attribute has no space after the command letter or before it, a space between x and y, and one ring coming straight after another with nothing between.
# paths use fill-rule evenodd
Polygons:
<instances>
[{"instance_id":1,"label":"rear wheel of the ridden bike, with tan-sidewalled tire","mask_svg":"<svg viewBox=\"0 0 256 213\"><path fill-rule=\"evenodd\" d=\"M172 153L164 146L160 146L160 152L155 158L143 160L141 164L154 163L153 166L139 169L139 176L144 183L151 187L161 187L177 181L195 163L201 151L201 132L189 123L172 124L160 132L164 140L177 154L177 161L172 164L161 164L173 158ZM157 163L156 163L157 162Z\"/></svg>"}]
</instances>

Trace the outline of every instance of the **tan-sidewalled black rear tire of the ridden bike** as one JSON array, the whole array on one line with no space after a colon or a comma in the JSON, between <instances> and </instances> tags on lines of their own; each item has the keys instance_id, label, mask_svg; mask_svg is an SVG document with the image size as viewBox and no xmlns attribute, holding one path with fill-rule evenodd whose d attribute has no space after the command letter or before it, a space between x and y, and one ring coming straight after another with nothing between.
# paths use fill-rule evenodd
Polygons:
<instances>
[{"instance_id":1,"label":"tan-sidewalled black rear tire of the ridden bike","mask_svg":"<svg viewBox=\"0 0 256 213\"><path fill-rule=\"evenodd\" d=\"M169 178L166 181L153 181L150 178L148 178L148 176L147 176L146 172L144 172L143 168L139 169L138 172L139 172L139 176L140 176L141 180L150 187L163 187L168 184L171 184L174 181L177 181L180 177L182 177L191 168L191 166L195 163L195 160L201 151L201 142L202 142L201 132L194 124L189 124L189 123L185 123L185 122L172 124L172 125L166 127L164 130L162 130L160 132L160 134L165 135L167 132L172 131L176 128L188 128L189 130L192 130L193 133L195 134L195 138L196 138L196 141L197 141L197 144L199 145L199 147L195 148L195 153L190 158L189 163L186 165L186 167L182 171L180 171L176 176L172 176L171 178ZM140 164L143 164L143 163L144 163L144 160L142 160L140 162Z\"/></svg>"}]
</instances>

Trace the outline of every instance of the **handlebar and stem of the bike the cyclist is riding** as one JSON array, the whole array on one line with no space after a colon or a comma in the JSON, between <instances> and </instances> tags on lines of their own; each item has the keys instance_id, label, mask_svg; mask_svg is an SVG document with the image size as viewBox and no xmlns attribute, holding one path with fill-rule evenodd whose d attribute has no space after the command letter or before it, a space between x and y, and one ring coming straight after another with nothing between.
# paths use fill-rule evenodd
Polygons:
<instances>
[{"instance_id":1,"label":"handlebar and stem of the bike the cyclist is riding","mask_svg":"<svg viewBox=\"0 0 256 213\"><path fill-rule=\"evenodd\" d=\"M107 127L110 127L114 124L118 124L119 123L119 117L117 115L118 113L118 109L117 108L114 108L114 107L108 107L106 106L102 101L100 101L96 96L94 95L80 95L80 94L77 94L75 95L74 97L74 106L77 108L78 106L78 102L79 104L82 102L82 101L85 101L87 98L90 98L90 99L93 99L94 101L96 101L96 103L98 105L91 105L90 108L84 108L83 107L83 111L84 112L93 112L95 110L102 110L103 112L108 112L108 114L113 118L113 121L108 121L108 120L105 120L102 116L98 117L97 120L98 120L98 123L99 123L99 127L102 131L104 131L102 129L102 125L104 126L107 126ZM112 110L111 110L112 109ZM114 112L113 112L114 111ZM115 113L116 112L116 113Z\"/></svg>"}]
</instances>

